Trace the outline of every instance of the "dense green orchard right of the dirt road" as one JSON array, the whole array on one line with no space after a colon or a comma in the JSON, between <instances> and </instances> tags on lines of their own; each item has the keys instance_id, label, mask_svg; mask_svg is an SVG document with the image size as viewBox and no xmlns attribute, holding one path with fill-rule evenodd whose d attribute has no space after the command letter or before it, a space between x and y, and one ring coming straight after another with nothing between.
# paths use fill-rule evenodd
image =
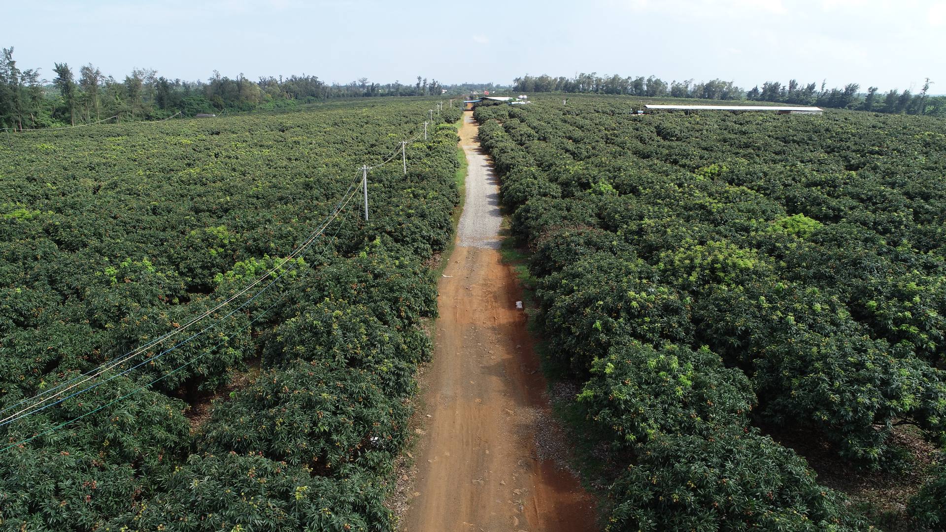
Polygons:
<instances>
[{"instance_id":1,"label":"dense green orchard right of the dirt road","mask_svg":"<svg viewBox=\"0 0 946 532\"><path fill-rule=\"evenodd\" d=\"M946 469L902 440L946 451L946 121L604 97L474 118L604 530L946 530ZM772 427L930 480L886 513Z\"/></svg>"}]
</instances>

